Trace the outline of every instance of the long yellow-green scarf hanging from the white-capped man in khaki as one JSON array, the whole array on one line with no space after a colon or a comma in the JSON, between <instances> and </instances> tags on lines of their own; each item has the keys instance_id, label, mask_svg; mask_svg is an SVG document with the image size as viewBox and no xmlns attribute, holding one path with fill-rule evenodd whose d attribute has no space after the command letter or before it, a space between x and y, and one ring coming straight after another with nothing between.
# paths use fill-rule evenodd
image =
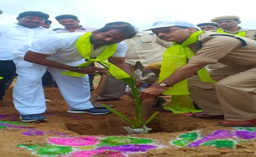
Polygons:
<instances>
[{"instance_id":1,"label":"long yellow-green scarf hanging from the white-capped man in khaki","mask_svg":"<svg viewBox=\"0 0 256 157\"><path fill-rule=\"evenodd\" d=\"M159 83L167 79L178 68L187 64L187 58L190 59L195 53L188 47L190 44L198 42L198 36L204 31L197 31L182 44L173 43L173 46L166 49L163 53L163 61L160 69ZM212 82L206 68L197 71L202 82ZM172 95L172 101L164 106L165 110L173 111L173 113L195 113L202 110L195 110L192 100L189 98L189 91L187 86L187 79L174 84L173 87L163 92L164 95Z\"/></svg>"}]
</instances>

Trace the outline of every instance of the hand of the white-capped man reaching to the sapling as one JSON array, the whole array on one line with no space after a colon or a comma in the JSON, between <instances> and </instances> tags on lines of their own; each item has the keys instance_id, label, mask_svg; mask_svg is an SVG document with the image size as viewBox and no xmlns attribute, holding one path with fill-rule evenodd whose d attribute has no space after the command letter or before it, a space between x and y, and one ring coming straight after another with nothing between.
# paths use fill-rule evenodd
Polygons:
<instances>
[{"instance_id":1,"label":"hand of the white-capped man reaching to the sapling","mask_svg":"<svg viewBox=\"0 0 256 157\"><path fill-rule=\"evenodd\" d=\"M170 87L162 87L157 84L156 86L152 86L150 88L140 91L138 97L142 98L144 101L149 101L150 99L166 91L168 88Z\"/></svg>"}]
</instances>

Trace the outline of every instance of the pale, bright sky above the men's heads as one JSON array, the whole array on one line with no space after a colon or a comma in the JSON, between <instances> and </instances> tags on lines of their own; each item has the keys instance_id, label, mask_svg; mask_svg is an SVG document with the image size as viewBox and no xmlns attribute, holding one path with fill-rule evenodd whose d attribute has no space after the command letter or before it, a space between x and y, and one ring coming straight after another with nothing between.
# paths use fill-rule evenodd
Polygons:
<instances>
[{"instance_id":1,"label":"pale, bright sky above the men's heads","mask_svg":"<svg viewBox=\"0 0 256 157\"><path fill-rule=\"evenodd\" d=\"M0 25L16 22L24 11L50 15L51 29L61 28L55 16L78 16L81 25L103 27L108 22L125 21L147 29L159 20L185 20L193 24L210 22L222 15L240 16L241 27L256 29L252 10L256 0L0 0Z\"/></svg>"}]
</instances>

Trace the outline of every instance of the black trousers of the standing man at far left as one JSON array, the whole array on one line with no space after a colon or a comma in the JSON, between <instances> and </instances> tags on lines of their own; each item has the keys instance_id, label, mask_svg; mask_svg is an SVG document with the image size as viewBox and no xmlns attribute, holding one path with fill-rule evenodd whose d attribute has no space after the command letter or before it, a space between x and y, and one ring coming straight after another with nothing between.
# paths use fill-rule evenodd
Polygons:
<instances>
[{"instance_id":1,"label":"black trousers of the standing man at far left","mask_svg":"<svg viewBox=\"0 0 256 157\"><path fill-rule=\"evenodd\" d=\"M5 84L12 79L15 71L16 66L13 60L0 60L0 77L4 77L0 80L0 97L5 95Z\"/></svg>"}]
</instances>

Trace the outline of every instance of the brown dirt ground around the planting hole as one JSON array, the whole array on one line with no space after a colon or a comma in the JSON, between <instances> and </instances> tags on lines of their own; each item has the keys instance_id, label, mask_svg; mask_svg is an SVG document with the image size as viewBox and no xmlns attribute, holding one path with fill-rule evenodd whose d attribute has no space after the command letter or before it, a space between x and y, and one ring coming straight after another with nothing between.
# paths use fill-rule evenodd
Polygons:
<instances>
[{"instance_id":1,"label":"brown dirt ground around the planting hole","mask_svg":"<svg viewBox=\"0 0 256 157\"><path fill-rule=\"evenodd\" d=\"M97 79L95 83L97 83ZM106 136L126 136L124 126L128 126L123 120L114 114L107 115L90 115L90 114L72 114L67 113L67 104L63 100L63 97L59 93L58 88L45 88L46 99L52 102L47 102L47 110L44 114L48 119L47 122L30 123L28 126L15 124L21 122L19 115L12 104L12 89L11 86L7 89L4 101L0 102L0 157L35 157L43 156L50 157L53 154L35 154L32 150L19 145L33 146L38 144L42 146L47 144L46 139L50 137L78 137L78 136L96 136L105 138ZM101 102L103 104L112 104L114 109L121 112L125 116L130 117L133 112L132 100L124 95L121 100ZM171 115L166 113L160 113L150 124L149 128L152 130L146 135L132 135L130 137L139 137L145 139L153 139L158 141L160 146L158 149L151 149L147 152L137 153L124 153L123 156L130 157L256 157L256 135L255 132L246 132L250 138L239 138L238 133L236 136L223 137L223 132L214 137L214 131L230 131L235 133L234 128L217 126L218 120L201 120L194 119L187 115ZM1 128L2 124L2 128ZM24 124L24 123L22 123ZM190 145L182 146L177 143L170 143L170 141L177 140L179 135L184 133L197 133L200 135L202 141L209 140L228 140L236 141L233 148L221 147L225 145L225 141L218 144L207 144L204 142L200 146L192 146L191 143L200 139L193 139L192 137L182 137L185 142ZM216 133L216 132L215 132ZM216 133L217 134L217 133ZM198 136L199 138L199 136ZM243 140L242 140L243 139ZM187 140L187 141L186 141ZM240 142L239 142L240 141ZM216 142L216 141L215 141ZM206 145L205 145L206 144ZM236 146L235 146L236 145ZM180 146L180 147L178 147ZM216 146L218 148L216 148ZM221 147L221 148L220 148ZM230 146L232 147L232 146ZM53 151L53 150L51 150ZM125 151L124 151L125 152ZM43 154L43 155L42 155ZM73 157L70 154L55 155L56 157ZM88 155L82 155L78 157L87 157ZM99 153L97 155L91 155L94 157L111 156L106 153ZM113 155L115 156L115 155ZM121 155L122 156L122 155ZM88 156L90 157L90 155Z\"/></svg>"}]
</instances>

